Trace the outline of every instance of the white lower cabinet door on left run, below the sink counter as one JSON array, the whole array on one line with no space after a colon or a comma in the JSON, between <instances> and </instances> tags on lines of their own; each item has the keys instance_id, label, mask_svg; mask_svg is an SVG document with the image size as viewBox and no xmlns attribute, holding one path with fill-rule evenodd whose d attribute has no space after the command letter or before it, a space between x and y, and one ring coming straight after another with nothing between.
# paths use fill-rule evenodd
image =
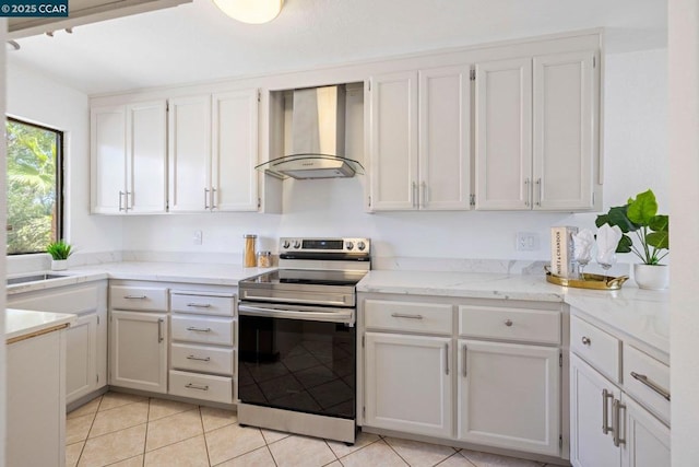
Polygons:
<instances>
[{"instance_id":1,"label":"white lower cabinet door on left run, below the sink counter","mask_svg":"<svg viewBox=\"0 0 699 467\"><path fill-rule=\"evenodd\" d=\"M81 316L66 331L66 404L97 386L97 314Z\"/></svg>"}]
</instances>

